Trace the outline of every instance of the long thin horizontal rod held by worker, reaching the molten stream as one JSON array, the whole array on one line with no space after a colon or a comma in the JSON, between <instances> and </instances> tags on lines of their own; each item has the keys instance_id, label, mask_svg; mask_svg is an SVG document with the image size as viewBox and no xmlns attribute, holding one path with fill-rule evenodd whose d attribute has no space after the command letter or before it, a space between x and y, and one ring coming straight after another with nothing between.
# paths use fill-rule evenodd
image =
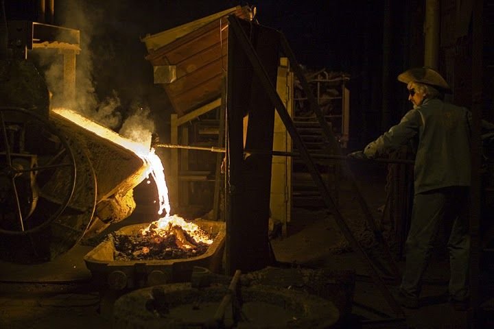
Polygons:
<instances>
[{"instance_id":1,"label":"long thin horizontal rod held by worker, reaching the molten stream","mask_svg":"<svg viewBox=\"0 0 494 329\"><path fill-rule=\"evenodd\" d=\"M204 146L189 146L189 145L176 145L176 144L154 144L153 147L166 147L169 149L196 149L199 151L211 151L217 153L225 153L224 147L204 147ZM255 149L246 149L246 154L264 154L268 156L292 156L292 157L300 157L301 154L298 152L287 152L287 151L260 151ZM338 156L336 154L314 154L311 153L310 156L312 158L318 159L329 159L329 160L365 160L365 161L375 161L375 162L384 162L384 163L401 163L401 164L414 164L414 160L405 160L405 159L386 159L386 158L374 158L374 159L357 159L352 158L351 156Z\"/></svg>"}]
</instances>

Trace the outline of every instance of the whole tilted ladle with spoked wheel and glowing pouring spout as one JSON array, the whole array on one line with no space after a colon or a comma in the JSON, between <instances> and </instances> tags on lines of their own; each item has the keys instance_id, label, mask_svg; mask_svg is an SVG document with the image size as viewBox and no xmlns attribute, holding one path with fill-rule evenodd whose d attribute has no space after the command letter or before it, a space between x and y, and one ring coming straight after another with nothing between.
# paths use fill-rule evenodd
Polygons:
<instances>
[{"instance_id":1,"label":"whole tilted ladle with spoked wheel and glowing pouring spout","mask_svg":"<svg viewBox=\"0 0 494 329\"><path fill-rule=\"evenodd\" d=\"M79 114L0 107L0 259L47 262L128 217L150 164L126 141Z\"/></svg>"}]
</instances>

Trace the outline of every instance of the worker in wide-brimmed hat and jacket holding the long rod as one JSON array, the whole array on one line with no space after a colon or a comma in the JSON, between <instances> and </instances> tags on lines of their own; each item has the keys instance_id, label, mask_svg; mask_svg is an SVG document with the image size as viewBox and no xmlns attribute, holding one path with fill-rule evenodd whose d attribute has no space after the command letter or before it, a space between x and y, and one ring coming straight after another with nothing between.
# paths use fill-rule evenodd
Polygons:
<instances>
[{"instance_id":1,"label":"worker in wide-brimmed hat and jacket holding the long rod","mask_svg":"<svg viewBox=\"0 0 494 329\"><path fill-rule=\"evenodd\" d=\"M375 158L416 141L414 202L405 243L405 272L398 300L406 308L419 307L421 282L440 224L451 221L447 247L451 277L449 296L456 309L468 306L470 237L467 201L471 182L471 112L443 101L447 82L429 68L414 68L398 76L407 84L413 109L364 151L353 158ZM487 127L492 128L486 121Z\"/></svg>"}]
</instances>

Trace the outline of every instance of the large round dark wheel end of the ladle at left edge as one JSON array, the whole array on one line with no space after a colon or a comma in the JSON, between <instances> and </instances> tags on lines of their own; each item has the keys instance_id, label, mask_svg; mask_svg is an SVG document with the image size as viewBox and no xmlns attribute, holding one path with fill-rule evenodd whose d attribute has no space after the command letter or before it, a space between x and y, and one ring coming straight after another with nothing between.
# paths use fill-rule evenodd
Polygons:
<instances>
[{"instance_id":1,"label":"large round dark wheel end of the ladle at left edge","mask_svg":"<svg viewBox=\"0 0 494 329\"><path fill-rule=\"evenodd\" d=\"M1 258L45 261L80 239L89 221L72 226L62 216L76 167L73 145L53 123L32 110L0 107Z\"/></svg>"}]
</instances>

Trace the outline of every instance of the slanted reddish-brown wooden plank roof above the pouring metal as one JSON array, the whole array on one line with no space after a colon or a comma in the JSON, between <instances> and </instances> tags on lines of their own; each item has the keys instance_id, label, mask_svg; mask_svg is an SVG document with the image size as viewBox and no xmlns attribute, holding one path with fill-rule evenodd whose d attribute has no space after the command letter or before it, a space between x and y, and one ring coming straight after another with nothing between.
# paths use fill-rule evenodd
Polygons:
<instances>
[{"instance_id":1,"label":"slanted reddish-brown wooden plank roof above the pouring metal","mask_svg":"<svg viewBox=\"0 0 494 329\"><path fill-rule=\"evenodd\" d=\"M176 79L163 88L179 117L221 97L230 14L251 19L250 8L237 6L143 39L153 66L174 66Z\"/></svg>"}]
</instances>

